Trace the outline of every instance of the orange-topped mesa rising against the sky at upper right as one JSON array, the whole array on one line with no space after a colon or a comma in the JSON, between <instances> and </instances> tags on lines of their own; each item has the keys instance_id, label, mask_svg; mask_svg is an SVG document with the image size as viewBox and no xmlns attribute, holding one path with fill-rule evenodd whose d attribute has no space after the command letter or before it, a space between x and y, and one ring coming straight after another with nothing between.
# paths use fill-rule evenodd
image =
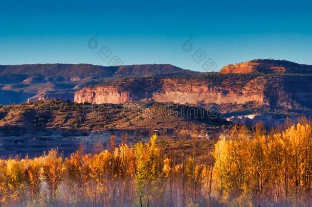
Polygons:
<instances>
[{"instance_id":1,"label":"orange-topped mesa rising against the sky at upper right","mask_svg":"<svg viewBox=\"0 0 312 207\"><path fill-rule=\"evenodd\" d=\"M251 60L247 62L230 64L224 66L221 74L229 73L299 73L310 74L312 73L312 65L298 64L286 60Z\"/></svg>"}]
</instances>

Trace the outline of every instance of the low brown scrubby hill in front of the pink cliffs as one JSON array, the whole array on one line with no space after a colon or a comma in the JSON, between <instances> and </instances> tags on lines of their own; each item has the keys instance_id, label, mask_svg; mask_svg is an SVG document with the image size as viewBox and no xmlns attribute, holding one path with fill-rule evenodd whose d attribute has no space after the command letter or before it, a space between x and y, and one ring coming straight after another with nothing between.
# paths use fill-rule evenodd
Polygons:
<instances>
[{"instance_id":1,"label":"low brown scrubby hill in front of the pink cliffs","mask_svg":"<svg viewBox=\"0 0 312 207\"><path fill-rule=\"evenodd\" d=\"M44 129L207 130L228 124L214 108L177 104L90 105L50 100L0 106L0 132L16 135Z\"/></svg>"}]
</instances>

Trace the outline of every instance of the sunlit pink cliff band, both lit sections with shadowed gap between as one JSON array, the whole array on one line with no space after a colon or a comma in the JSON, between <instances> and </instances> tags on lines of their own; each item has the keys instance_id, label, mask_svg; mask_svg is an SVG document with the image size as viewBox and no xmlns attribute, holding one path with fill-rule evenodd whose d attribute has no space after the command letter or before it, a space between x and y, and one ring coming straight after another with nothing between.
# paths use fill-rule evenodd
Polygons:
<instances>
[{"instance_id":1,"label":"sunlit pink cliff band, both lit sections with shadowed gap between","mask_svg":"<svg viewBox=\"0 0 312 207\"><path fill-rule=\"evenodd\" d=\"M123 104L150 99L156 102L180 104L243 104L251 101L267 104L264 99L264 85L255 85L254 81L239 86L239 88L228 88L226 85L210 84L207 81L192 78L188 80L179 78L140 79L141 83L145 83L138 88L135 86L136 81L136 79L128 80L126 87L118 84L85 87L75 94L75 102ZM148 89L144 85L148 85Z\"/></svg>"}]
</instances>

